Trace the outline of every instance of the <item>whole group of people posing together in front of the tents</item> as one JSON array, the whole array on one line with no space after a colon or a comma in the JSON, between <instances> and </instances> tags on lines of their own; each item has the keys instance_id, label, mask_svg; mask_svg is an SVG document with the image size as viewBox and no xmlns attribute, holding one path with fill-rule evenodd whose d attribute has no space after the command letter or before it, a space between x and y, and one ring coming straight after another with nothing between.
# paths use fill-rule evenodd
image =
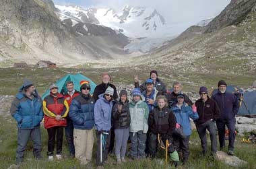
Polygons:
<instances>
[{"instance_id":1,"label":"whole group of people posing together in front of the tents","mask_svg":"<svg viewBox=\"0 0 256 169\"><path fill-rule=\"evenodd\" d=\"M89 81L80 81L80 91L73 88L73 81L67 81L64 94L59 93L59 87L53 83L49 96L42 100L32 81L25 79L10 108L18 123L16 163L23 162L29 139L34 143L34 157L42 158L40 122L43 118L49 136L47 156L50 161L62 158L65 129L70 156L84 165L92 161L94 131L98 168L107 163L114 145L117 162L126 162L128 140L131 143L129 160L154 159L158 149L163 147L175 166L186 164L189 160L190 119L193 119L201 139L203 156L207 154L206 130L210 133L212 156L216 156L216 126L221 150L225 148L225 130L228 127L228 154L234 155L238 99L226 92L225 81L218 82L218 93L212 98L207 88L202 86L195 104L181 91L183 86L179 81L174 81L173 92L167 92L155 70L141 86L139 77L135 75L135 88L130 99L126 90L121 90L118 96L110 81L110 75L103 73L102 83L96 86L92 96Z\"/></svg>"}]
</instances>

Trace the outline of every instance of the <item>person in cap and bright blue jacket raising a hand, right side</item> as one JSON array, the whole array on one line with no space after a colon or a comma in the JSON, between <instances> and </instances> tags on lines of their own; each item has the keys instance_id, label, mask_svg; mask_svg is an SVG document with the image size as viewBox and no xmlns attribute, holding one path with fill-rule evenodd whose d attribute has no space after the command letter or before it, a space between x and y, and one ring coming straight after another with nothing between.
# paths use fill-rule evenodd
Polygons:
<instances>
[{"instance_id":1,"label":"person in cap and bright blue jacket raising a hand, right side","mask_svg":"<svg viewBox=\"0 0 256 169\"><path fill-rule=\"evenodd\" d=\"M197 114L197 108L193 105L193 108L185 102L185 95L183 93L177 94L177 104L172 106L172 112L177 120L176 128L183 127L183 133L185 137L179 135L173 136L174 149L183 152L183 164L186 164L189 160L189 137L191 135L191 125L189 118L197 120L199 118Z\"/></svg>"}]
</instances>

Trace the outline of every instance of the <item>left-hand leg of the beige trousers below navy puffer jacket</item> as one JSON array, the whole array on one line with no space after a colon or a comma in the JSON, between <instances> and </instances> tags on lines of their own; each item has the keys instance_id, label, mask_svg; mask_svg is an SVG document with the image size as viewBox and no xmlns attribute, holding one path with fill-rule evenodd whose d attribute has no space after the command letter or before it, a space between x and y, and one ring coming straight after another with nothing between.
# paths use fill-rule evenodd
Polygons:
<instances>
[{"instance_id":1,"label":"left-hand leg of the beige trousers below navy puffer jacket","mask_svg":"<svg viewBox=\"0 0 256 169\"><path fill-rule=\"evenodd\" d=\"M74 144L75 144L75 158L81 162L84 160L84 154L86 151L86 133L85 130L74 129Z\"/></svg>"}]
</instances>

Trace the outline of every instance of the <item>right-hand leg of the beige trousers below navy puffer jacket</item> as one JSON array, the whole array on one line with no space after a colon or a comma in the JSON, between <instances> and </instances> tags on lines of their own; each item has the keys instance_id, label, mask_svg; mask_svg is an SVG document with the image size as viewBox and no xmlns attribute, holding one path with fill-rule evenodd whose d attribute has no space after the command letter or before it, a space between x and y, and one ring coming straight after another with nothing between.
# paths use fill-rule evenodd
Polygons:
<instances>
[{"instance_id":1,"label":"right-hand leg of the beige trousers below navy puffer jacket","mask_svg":"<svg viewBox=\"0 0 256 169\"><path fill-rule=\"evenodd\" d=\"M92 160L92 149L94 147L94 129L86 130L86 160Z\"/></svg>"}]
</instances>

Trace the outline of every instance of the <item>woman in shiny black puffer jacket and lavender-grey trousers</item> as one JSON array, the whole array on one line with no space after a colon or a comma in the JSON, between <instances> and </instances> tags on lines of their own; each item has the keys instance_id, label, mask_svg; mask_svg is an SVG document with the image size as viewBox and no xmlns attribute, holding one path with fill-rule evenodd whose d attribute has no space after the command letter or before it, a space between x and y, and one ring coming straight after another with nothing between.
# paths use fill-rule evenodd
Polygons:
<instances>
[{"instance_id":1,"label":"woman in shiny black puffer jacket and lavender-grey trousers","mask_svg":"<svg viewBox=\"0 0 256 169\"><path fill-rule=\"evenodd\" d=\"M129 111L129 100L126 90L121 90L120 100L113 106L112 119L113 128L115 129L115 154L117 156L117 162L125 162L125 153L127 147L127 141L129 138L129 127L130 127L130 111Z\"/></svg>"}]
</instances>

